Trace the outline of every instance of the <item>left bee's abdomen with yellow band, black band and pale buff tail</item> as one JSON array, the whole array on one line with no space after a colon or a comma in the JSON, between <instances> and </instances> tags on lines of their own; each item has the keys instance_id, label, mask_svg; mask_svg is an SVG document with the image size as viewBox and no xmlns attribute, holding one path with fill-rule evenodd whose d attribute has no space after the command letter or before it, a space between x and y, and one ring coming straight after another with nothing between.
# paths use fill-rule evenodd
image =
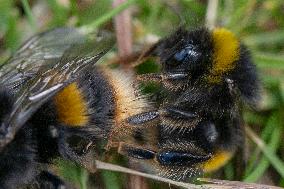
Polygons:
<instances>
[{"instance_id":1,"label":"left bee's abdomen with yellow band, black band and pale buff tail","mask_svg":"<svg viewBox=\"0 0 284 189\"><path fill-rule=\"evenodd\" d=\"M93 66L53 98L55 119L68 127L98 127L106 136L115 130L119 138L127 130L122 122L150 107L134 83L130 70Z\"/></svg>"}]
</instances>

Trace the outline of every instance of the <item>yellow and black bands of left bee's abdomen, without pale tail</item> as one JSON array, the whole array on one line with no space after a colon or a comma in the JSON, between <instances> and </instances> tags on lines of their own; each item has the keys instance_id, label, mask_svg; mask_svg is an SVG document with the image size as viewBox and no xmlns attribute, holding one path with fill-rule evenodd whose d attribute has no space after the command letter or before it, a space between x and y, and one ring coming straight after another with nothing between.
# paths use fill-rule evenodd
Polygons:
<instances>
[{"instance_id":1,"label":"yellow and black bands of left bee's abdomen, without pale tail","mask_svg":"<svg viewBox=\"0 0 284 189\"><path fill-rule=\"evenodd\" d=\"M115 94L99 66L80 78L52 100L58 123L69 127L100 127L109 131L115 111Z\"/></svg>"}]
</instances>

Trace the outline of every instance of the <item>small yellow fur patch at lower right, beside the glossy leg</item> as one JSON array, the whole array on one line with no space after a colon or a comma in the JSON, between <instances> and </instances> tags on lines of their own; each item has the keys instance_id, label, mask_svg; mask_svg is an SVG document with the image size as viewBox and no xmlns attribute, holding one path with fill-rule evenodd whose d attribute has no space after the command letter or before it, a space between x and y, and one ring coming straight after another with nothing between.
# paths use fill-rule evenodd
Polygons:
<instances>
[{"instance_id":1,"label":"small yellow fur patch at lower right, beside the glossy leg","mask_svg":"<svg viewBox=\"0 0 284 189\"><path fill-rule=\"evenodd\" d=\"M202 164L204 172L212 172L224 166L233 156L233 152L218 151L208 161Z\"/></svg>"}]
</instances>

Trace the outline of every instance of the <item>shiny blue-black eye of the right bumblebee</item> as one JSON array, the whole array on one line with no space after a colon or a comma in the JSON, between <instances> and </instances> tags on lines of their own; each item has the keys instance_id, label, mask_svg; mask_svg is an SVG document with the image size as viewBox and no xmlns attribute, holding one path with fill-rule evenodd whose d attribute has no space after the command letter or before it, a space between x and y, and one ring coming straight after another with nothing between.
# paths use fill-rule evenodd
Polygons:
<instances>
[{"instance_id":1,"label":"shiny blue-black eye of the right bumblebee","mask_svg":"<svg viewBox=\"0 0 284 189\"><path fill-rule=\"evenodd\" d=\"M189 62L189 63L195 63L198 58L200 57L200 53L198 53L193 45L188 45L184 47L181 51L177 52L174 55L174 62Z\"/></svg>"}]
</instances>

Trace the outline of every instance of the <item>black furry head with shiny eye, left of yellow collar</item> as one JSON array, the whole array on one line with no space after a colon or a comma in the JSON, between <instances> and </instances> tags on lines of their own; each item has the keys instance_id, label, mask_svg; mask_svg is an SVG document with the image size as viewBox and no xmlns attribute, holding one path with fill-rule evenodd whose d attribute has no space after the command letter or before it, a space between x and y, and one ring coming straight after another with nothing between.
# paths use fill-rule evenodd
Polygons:
<instances>
[{"instance_id":1,"label":"black furry head with shiny eye, left of yellow collar","mask_svg":"<svg viewBox=\"0 0 284 189\"><path fill-rule=\"evenodd\" d=\"M159 42L157 54L164 72L198 77L211 62L212 48L212 37L207 29L179 29Z\"/></svg>"}]
</instances>

